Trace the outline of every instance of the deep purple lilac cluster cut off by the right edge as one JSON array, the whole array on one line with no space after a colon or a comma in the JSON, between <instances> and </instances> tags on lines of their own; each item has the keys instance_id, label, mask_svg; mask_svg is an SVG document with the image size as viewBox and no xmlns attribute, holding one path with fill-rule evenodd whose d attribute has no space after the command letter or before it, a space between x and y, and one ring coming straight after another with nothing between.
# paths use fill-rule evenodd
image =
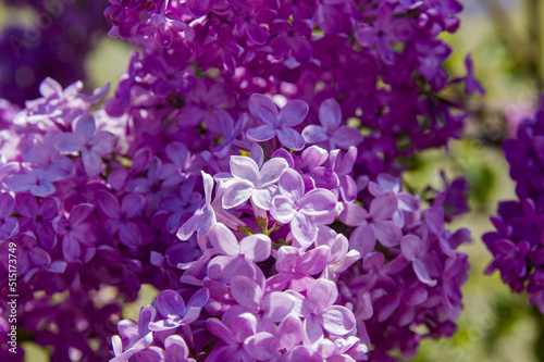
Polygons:
<instances>
[{"instance_id":1,"label":"deep purple lilac cluster cut off by the right edge","mask_svg":"<svg viewBox=\"0 0 544 362\"><path fill-rule=\"evenodd\" d=\"M514 292L527 291L544 313L544 104L503 148L518 200L499 202L498 215L491 217L496 232L483 241L494 259L485 272L498 270Z\"/></svg>"}]
</instances>

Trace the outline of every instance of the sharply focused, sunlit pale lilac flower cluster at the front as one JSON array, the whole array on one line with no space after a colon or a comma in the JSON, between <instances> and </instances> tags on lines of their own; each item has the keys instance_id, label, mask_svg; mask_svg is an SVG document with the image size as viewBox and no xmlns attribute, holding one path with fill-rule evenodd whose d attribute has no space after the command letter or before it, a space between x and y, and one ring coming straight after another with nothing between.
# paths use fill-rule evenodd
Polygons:
<instances>
[{"instance_id":1,"label":"sharply focused, sunlit pale lilac flower cluster at the front","mask_svg":"<svg viewBox=\"0 0 544 362\"><path fill-rule=\"evenodd\" d=\"M123 321L112 361L169 361L174 350L182 361L189 351L207 361L354 361L368 359L370 344L383 361L393 349L415 357L423 336L410 327L450 336L469 267L455 249L468 230L445 230L441 208L421 219L419 198L388 174L359 190L367 209L345 201L335 162L351 167L356 150L280 149L264 162L254 147L215 179L201 172L205 198L177 232L181 249L199 248L176 265L186 287L162 291L138 327ZM297 170L304 163L319 166Z\"/></svg>"}]
</instances>

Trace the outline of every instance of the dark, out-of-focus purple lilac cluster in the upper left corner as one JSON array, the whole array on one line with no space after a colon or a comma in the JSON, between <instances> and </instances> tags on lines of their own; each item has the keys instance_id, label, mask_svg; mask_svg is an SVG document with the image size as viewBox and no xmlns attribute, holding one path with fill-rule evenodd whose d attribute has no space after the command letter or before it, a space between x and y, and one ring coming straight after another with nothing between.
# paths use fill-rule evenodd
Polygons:
<instances>
[{"instance_id":1,"label":"dark, out-of-focus purple lilac cluster in the upper left corner","mask_svg":"<svg viewBox=\"0 0 544 362\"><path fill-rule=\"evenodd\" d=\"M0 32L0 98L23 107L25 100L39 97L38 86L46 76L63 86L86 77L87 54L108 29L100 16L106 0L3 3L34 13L30 24L10 24Z\"/></svg>"}]
</instances>

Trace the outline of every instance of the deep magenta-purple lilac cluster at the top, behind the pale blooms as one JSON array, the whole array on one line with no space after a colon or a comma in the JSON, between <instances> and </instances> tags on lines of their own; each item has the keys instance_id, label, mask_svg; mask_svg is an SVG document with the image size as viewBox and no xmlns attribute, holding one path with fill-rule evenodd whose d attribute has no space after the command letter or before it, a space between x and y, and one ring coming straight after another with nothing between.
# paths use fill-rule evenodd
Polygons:
<instances>
[{"instance_id":1,"label":"deep magenta-purple lilac cluster at the top, behind the pale blooms","mask_svg":"<svg viewBox=\"0 0 544 362\"><path fill-rule=\"evenodd\" d=\"M398 174L398 157L460 136L465 114L436 92L460 80L469 92L481 91L470 59L462 79L449 80L442 65L452 49L437 35L457 29L460 10L456 0L112 1L110 35L144 52L134 54L106 110L134 117L139 137L156 126L152 120L168 117L189 134L205 127L213 141L224 136L218 111L239 113L252 93L302 100L308 127L285 124L269 108L248 139L276 139L294 150L302 139L327 150L355 142L358 174ZM337 104L323 103L330 98Z\"/></svg>"}]
</instances>

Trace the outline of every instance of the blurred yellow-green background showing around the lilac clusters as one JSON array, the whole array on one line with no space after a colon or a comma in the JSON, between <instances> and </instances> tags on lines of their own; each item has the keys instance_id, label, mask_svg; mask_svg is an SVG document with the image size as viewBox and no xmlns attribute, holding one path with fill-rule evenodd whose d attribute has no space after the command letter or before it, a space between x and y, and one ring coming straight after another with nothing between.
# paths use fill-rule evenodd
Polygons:
<instances>
[{"instance_id":1,"label":"blurred yellow-green background showing around the lilac clusters","mask_svg":"<svg viewBox=\"0 0 544 362\"><path fill-rule=\"evenodd\" d=\"M491 254L481 236L492 230L489 216L498 200L514 199L514 184L500 141L515 134L516 125L537 107L544 84L544 1L462 0L466 9L458 33L443 39L454 47L447 62L454 76L465 75L465 55L470 52L477 77L486 89L466 104L472 116L466 137L449 150L418 155L418 167L407 173L410 186L442 186L440 171L449 177L466 176L471 186L471 212L455 220L450 229L468 227L472 242L462 247L472 269L463 287L465 309L457 334L450 339L424 340L416 361L540 362L544 361L544 317L527 302L527 296L511 295L498 275L484 276ZM2 9L0 24L25 22L28 14ZM131 48L118 39L97 40L87 60L88 86L110 82L112 90L128 64ZM111 90L111 91L112 91ZM419 186L421 185L421 186ZM137 319L139 308L150 303L157 290L145 287L136 303L124 308L124 317ZM47 361L47 353L32 342L27 362Z\"/></svg>"}]
</instances>

